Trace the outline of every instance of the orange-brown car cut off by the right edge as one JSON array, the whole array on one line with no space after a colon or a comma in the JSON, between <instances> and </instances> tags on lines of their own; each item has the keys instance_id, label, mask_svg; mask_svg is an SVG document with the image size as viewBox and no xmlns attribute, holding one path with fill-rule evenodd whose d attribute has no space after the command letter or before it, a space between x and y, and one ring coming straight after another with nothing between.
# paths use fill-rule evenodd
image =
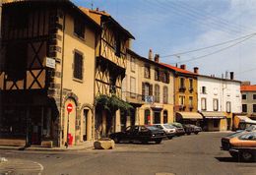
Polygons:
<instances>
[{"instance_id":1,"label":"orange-brown car cut off by the right edge","mask_svg":"<svg viewBox=\"0 0 256 175\"><path fill-rule=\"evenodd\" d=\"M236 132L222 138L222 149L244 161L256 160L256 131Z\"/></svg>"}]
</instances>

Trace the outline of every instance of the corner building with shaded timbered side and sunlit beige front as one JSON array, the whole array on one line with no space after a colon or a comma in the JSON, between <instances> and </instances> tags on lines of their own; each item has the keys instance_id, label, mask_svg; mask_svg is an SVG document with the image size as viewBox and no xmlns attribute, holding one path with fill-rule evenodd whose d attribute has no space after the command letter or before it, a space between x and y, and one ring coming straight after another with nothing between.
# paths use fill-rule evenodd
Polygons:
<instances>
[{"instance_id":1,"label":"corner building with shaded timbered side and sunlit beige front","mask_svg":"<svg viewBox=\"0 0 256 175\"><path fill-rule=\"evenodd\" d=\"M94 138L98 33L70 1L3 4L1 145L65 146Z\"/></svg>"}]
</instances>

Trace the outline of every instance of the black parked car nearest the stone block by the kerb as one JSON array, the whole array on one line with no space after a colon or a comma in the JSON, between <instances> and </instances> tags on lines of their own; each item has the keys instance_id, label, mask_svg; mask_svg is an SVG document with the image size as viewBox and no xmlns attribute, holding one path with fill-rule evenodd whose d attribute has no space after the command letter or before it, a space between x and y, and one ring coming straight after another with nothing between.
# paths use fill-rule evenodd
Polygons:
<instances>
[{"instance_id":1,"label":"black parked car nearest the stone block by the kerb","mask_svg":"<svg viewBox=\"0 0 256 175\"><path fill-rule=\"evenodd\" d=\"M156 142L156 144L160 144L166 136L164 131L154 126L136 125L127 127L123 132L112 133L109 137L115 143L139 141L142 143Z\"/></svg>"}]
</instances>

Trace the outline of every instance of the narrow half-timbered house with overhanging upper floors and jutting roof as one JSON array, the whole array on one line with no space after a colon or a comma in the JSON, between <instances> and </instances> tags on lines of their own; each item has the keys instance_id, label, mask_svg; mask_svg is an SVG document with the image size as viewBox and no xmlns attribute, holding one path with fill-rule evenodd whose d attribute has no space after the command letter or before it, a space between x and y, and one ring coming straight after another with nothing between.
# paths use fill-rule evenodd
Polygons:
<instances>
[{"instance_id":1,"label":"narrow half-timbered house with overhanging upper floors and jutting roof","mask_svg":"<svg viewBox=\"0 0 256 175\"><path fill-rule=\"evenodd\" d=\"M104 11L81 10L102 28L96 40L96 97L114 95L121 99L126 49L134 36ZM120 110L96 110L96 138L105 137L113 131L120 131Z\"/></svg>"}]
</instances>

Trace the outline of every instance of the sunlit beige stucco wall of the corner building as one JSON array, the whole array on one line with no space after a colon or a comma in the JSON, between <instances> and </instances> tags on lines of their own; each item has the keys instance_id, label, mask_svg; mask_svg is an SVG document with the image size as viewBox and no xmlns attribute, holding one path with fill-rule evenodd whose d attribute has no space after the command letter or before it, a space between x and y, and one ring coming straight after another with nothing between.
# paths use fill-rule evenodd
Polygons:
<instances>
[{"instance_id":1,"label":"sunlit beige stucco wall of the corner building","mask_svg":"<svg viewBox=\"0 0 256 175\"><path fill-rule=\"evenodd\" d=\"M79 141L83 141L83 130L85 130L85 122L87 122L88 129L86 131L87 140L93 140L93 111L91 110L94 104L94 81L95 81L95 30L87 28L85 32L85 39L78 38L74 35L74 21L71 16L66 16L64 35L64 57L63 57L63 89L71 91L78 96L77 106L77 128L76 135ZM83 80L76 80L73 77L74 67L74 52L78 51L83 55ZM61 68L59 68L61 70ZM84 106L84 107L83 107ZM66 107L66 106L65 106ZM87 121L84 119L84 109L89 110ZM65 109L66 110L66 109ZM64 114L64 126L66 125L66 113ZM64 128L64 133L66 127Z\"/></svg>"}]
</instances>

